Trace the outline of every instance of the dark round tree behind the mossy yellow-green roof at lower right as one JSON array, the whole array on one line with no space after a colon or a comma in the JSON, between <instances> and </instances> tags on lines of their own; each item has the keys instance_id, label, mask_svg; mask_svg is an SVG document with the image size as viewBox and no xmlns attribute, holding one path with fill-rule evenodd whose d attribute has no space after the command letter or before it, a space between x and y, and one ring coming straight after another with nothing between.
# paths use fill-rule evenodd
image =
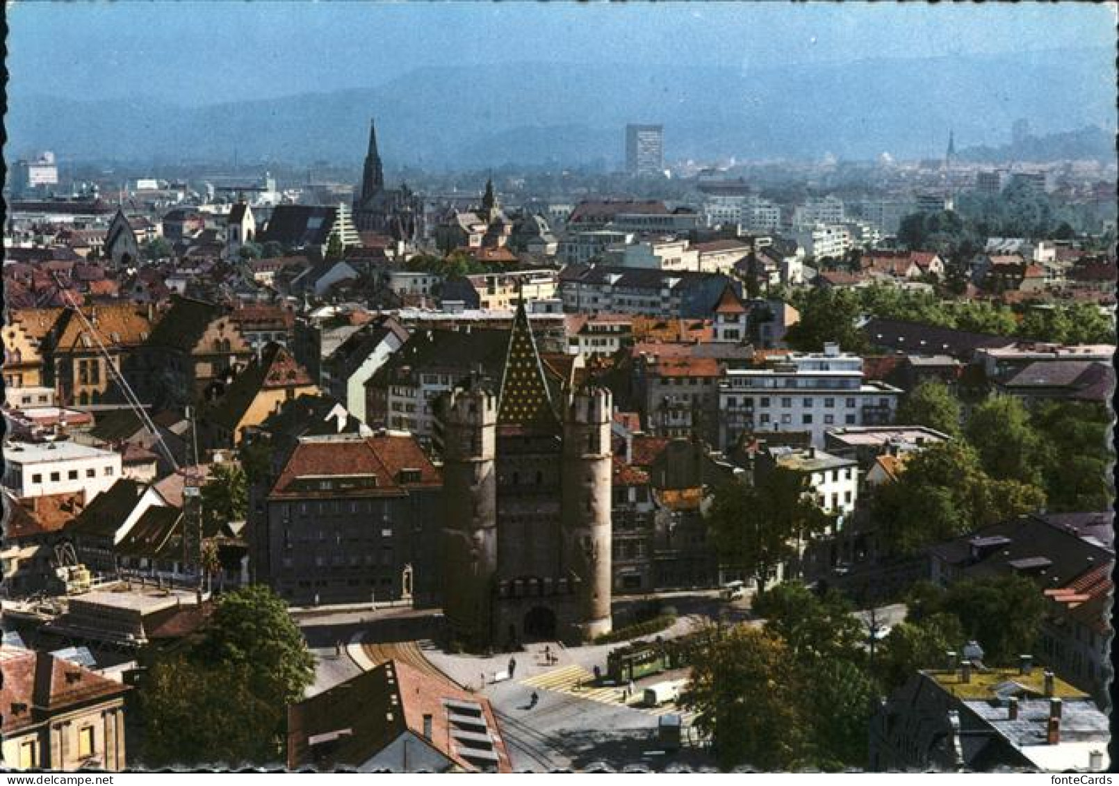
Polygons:
<instances>
[{"instance_id":1,"label":"dark round tree behind the mossy yellow-green roof at lower right","mask_svg":"<svg viewBox=\"0 0 1119 786\"><path fill-rule=\"evenodd\" d=\"M1033 652L1045 600L1041 587L1008 573L957 581L944 593L943 608L959 617L968 639L979 642L986 663L1005 666Z\"/></svg>"}]
</instances>

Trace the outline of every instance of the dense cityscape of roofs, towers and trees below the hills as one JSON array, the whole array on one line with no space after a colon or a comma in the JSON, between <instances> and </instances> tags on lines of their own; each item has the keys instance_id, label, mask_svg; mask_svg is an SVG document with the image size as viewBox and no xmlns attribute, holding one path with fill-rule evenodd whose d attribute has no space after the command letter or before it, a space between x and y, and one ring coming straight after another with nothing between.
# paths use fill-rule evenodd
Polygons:
<instances>
[{"instance_id":1,"label":"dense cityscape of roofs, towers and trees below the hills","mask_svg":"<svg viewBox=\"0 0 1119 786\"><path fill-rule=\"evenodd\" d=\"M1113 129L351 121L7 151L3 767L1108 769Z\"/></svg>"}]
</instances>

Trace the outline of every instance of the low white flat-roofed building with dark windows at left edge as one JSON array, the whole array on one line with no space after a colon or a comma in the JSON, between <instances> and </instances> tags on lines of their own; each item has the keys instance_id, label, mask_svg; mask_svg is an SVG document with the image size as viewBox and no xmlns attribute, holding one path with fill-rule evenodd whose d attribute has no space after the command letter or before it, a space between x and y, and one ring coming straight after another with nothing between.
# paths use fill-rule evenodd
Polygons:
<instances>
[{"instance_id":1,"label":"low white flat-roofed building with dark windows at left edge","mask_svg":"<svg viewBox=\"0 0 1119 786\"><path fill-rule=\"evenodd\" d=\"M101 494L121 477L121 455L76 442L7 442L3 485L18 497Z\"/></svg>"}]
</instances>

